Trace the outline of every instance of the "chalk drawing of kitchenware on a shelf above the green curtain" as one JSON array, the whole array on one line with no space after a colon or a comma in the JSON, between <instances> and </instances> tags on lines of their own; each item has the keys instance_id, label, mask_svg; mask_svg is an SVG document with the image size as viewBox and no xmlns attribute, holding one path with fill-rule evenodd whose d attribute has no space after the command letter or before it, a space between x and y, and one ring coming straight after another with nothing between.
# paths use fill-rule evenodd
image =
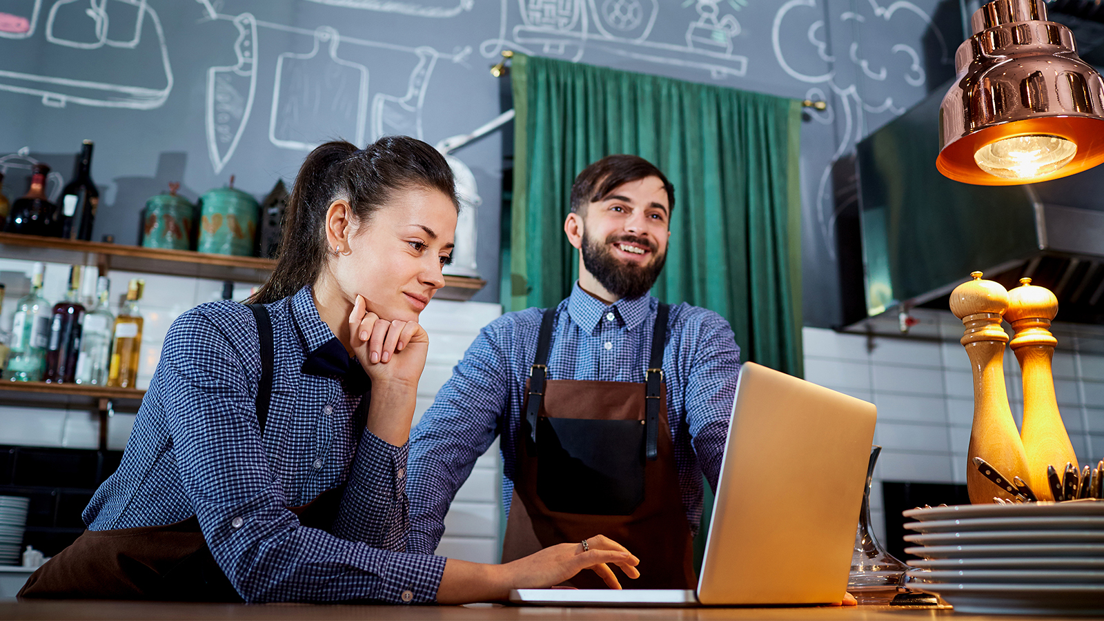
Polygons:
<instances>
[{"instance_id":1,"label":"chalk drawing of kitchenware on a shelf above the green curtain","mask_svg":"<svg viewBox=\"0 0 1104 621\"><path fill-rule=\"evenodd\" d=\"M747 73L747 57L733 53L740 22L731 14L719 17L720 0L698 0L698 19L688 24L686 44L650 39L658 0L517 0L519 17L510 12L510 0L501 1L499 36L479 46L486 57L510 49L578 62L592 50L704 71L714 80ZM509 29L511 21L521 23Z\"/></svg>"}]
</instances>

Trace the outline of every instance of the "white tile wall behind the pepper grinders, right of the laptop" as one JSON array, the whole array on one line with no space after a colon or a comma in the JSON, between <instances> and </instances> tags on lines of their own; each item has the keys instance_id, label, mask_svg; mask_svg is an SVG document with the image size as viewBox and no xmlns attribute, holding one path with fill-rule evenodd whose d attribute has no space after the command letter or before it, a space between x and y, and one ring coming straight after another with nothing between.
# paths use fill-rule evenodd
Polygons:
<instances>
[{"instance_id":1,"label":"white tile wall behind the pepper grinders, right of the laptop","mask_svg":"<svg viewBox=\"0 0 1104 621\"><path fill-rule=\"evenodd\" d=\"M878 337L828 329L803 330L809 381L878 406L871 514L884 538L882 481L966 482L966 449L974 419L969 358L958 344L962 323L951 313L924 314L927 336ZM937 328L937 329L935 329ZM1055 324L1054 389L1062 420L1082 463L1104 459L1104 330ZM1008 399L1017 424L1023 397L1019 362L1006 349Z\"/></svg>"}]
</instances>

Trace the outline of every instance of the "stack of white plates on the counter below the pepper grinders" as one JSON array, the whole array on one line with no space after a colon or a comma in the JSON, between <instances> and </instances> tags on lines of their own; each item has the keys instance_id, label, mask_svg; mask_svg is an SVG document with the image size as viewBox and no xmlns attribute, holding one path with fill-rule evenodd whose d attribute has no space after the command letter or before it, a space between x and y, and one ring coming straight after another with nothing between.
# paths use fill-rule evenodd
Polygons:
<instances>
[{"instance_id":1,"label":"stack of white plates on the counter below the pepper grinders","mask_svg":"<svg viewBox=\"0 0 1104 621\"><path fill-rule=\"evenodd\" d=\"M910 588L959 612L1104 614L1104 501L911 509Z\"/></svg>"}]
</instances>

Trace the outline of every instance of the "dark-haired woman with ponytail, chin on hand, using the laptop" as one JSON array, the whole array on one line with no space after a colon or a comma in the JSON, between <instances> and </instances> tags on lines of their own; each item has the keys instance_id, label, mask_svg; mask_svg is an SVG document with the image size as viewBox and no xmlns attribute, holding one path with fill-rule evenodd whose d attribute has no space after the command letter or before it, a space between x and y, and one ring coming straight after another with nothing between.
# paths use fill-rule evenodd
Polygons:
<instances>
[{"instance_id":1,"label":"dark-haired woman with ponytail, chin on hand, using the laptop","mask_svg":"<svg viewBox=\"0 0 1104 621\"><path fill-rule=\"evenodd\" d=\"M176 322L88 530L21 597L461 603L636 558L594 537L496 566L405 554L405 463L458 203L407 137L299 170L276 270ZM584 548L588 548L588 551Z\"/></svg>"}]
</instances>

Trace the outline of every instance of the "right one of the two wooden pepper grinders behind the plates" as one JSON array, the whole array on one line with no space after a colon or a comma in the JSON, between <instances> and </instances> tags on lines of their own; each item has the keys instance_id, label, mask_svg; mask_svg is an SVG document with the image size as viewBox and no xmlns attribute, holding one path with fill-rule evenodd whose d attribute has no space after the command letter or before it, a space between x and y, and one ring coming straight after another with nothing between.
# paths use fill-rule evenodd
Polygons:
<instances>
[{"instance_id":1,"label":"right one of the two wooden pepper grinders behind the plates","mask_svg":"<svg viewBox=\"0 0 1104 621\"><path fill-rule=\"evenodd\" d=\"M1070 434L1062 424L1054 398L1051 360L1058 339L1050 331L1050 322L1058 314L1058 298L1045 287L1034 286L1031 278L1020 278L1020 286L1008 292L1005 319L1016 336L1010 343L1020 361L1023 376L1023 453L1028 459L1028 486L1040 501L1053 501L1047 482L1047 466L1062 472L1066 463L1078 465L1078 455ZM1009 475L1010 476L1010 475Z\"/></svg>"}]
</instances>

